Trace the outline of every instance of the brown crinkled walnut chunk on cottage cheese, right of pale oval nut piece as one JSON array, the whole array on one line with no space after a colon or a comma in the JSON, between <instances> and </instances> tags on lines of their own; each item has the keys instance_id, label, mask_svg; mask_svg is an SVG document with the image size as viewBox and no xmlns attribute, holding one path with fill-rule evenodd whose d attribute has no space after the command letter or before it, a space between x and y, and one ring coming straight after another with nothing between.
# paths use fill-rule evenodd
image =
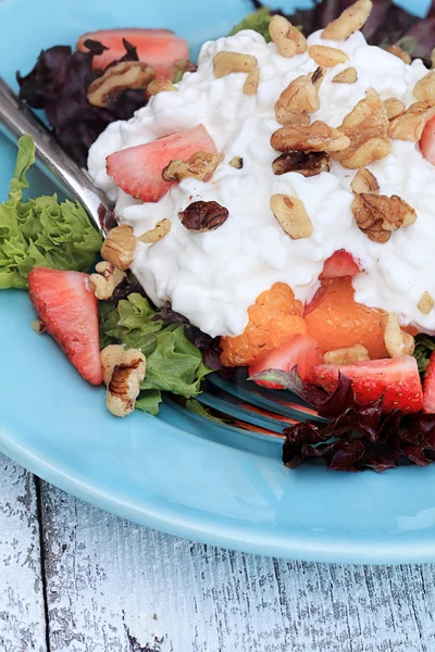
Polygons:
<instances>
[{"instance_id":1,"label":"brown crinkled walnut chunk on cottage cheese, right of pale oval nut piece","mask_svg":"<svg viewBox=\"0 0 435 652\"><path fill-rule=\"evenodd\" d=\"M414 209L397 195L362 192L353 199L352 212L359 228L380 243L387 242L391 231L410 226L417 220Z\"/></svg>"}]
</instances>

